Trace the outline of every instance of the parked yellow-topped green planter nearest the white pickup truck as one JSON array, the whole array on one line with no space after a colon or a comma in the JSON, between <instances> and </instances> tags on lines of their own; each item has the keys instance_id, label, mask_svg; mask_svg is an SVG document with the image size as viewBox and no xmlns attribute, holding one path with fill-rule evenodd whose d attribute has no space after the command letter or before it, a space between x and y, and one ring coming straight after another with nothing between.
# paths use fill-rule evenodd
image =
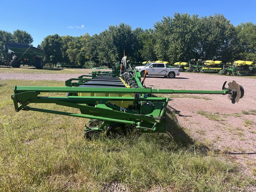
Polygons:
<instances>
[{"instance_id":1,"label":"parked yellow-topped green planter nearest the white pickup truck","mask_svg":"<svg viewBox=\"0 0 256 192\"><path fill-rule=\"evenodd\" d=\"M191 60L185 72L218 73L222 70L222 61L213 60Z\"/></svg>"}]
</instances>

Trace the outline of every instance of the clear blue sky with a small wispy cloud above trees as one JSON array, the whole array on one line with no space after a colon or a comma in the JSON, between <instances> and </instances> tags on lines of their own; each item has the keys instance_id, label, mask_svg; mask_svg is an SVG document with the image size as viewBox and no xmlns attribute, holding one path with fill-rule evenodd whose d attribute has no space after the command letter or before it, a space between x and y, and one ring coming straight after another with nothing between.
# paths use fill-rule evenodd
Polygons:
<instances>
[{"instance_id":1,"label":"clear blue sky with a small wispy cloud above trees","mask_svg":"<svg viewBox=\"0 0 256 192\"><path fill-rule=\"evenodd\" d=\"M48 35L90 36L120 23L154 28L175 12L213 16L222 14L234 26L256 24L256 0L1 0L0 30L31 34L36 47Z\"/></svg>"}]
</instances>

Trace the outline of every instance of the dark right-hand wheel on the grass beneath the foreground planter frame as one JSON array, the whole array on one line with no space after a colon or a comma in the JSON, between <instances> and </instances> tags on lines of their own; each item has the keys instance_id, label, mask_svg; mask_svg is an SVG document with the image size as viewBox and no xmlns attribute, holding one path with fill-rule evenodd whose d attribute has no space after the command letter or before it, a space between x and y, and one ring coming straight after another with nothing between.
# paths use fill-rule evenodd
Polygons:
<instances>
[{"instance_id":1,"label":"dark right-hand wheel on the grass beneath the foreground planter frame","mask_svg":"<svg viewBox=\"0 0 256 192\"><path fill-rule=\"evenodd\" d=\"M113 123L107 127L106 135L110 138L122 137L127 135L124 124Z\"/></svg>"}]
</instances>

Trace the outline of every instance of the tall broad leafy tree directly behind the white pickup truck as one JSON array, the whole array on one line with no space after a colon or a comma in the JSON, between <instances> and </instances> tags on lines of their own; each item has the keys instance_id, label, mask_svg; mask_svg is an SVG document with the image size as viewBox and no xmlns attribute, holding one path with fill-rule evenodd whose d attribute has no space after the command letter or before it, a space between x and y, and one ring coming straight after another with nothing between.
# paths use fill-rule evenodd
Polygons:
<instances>
[{"instance_id":1,"label":"tall broad leafy tree directly behind the white pickup truck","mask_svg":"<svg viewBox=\"0 0 256 192\"><path fill-rule=\"evenodd\" d=\"M158 60L187 61L196 56L198 41L197 15L175 13L156 22L154 52Z\"/></svg>"}]
</instances>

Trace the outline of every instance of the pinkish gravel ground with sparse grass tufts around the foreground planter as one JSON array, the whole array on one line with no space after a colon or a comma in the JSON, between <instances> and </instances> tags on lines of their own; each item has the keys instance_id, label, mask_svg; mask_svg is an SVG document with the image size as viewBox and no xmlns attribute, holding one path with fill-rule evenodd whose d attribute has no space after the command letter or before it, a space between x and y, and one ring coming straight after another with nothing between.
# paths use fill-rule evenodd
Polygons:
<instances>
[{"instance_id":1,"label":"pinkish gravel ground with sparse grass tufts around the foreground planter","mask_svg":"<svg viewBox=\"0 0 256 192\"><path fill-rule=\"evenodd\" d=\"M60 80L88 74L11 74L0 71L0 79ZM256 79L181 72L174 79L148 76L145 85L174 90L222 90L224 81L235 80L244 88L244 97L236 104L227 95L172 94L169 109L192 140L200 141L237 163L244 174L256 179ZM167 95L165 95L167 96ZM168 96L167 96L168 97ZM256 188L255 188L256 190Z\"/></svg>"}]
</instances>

